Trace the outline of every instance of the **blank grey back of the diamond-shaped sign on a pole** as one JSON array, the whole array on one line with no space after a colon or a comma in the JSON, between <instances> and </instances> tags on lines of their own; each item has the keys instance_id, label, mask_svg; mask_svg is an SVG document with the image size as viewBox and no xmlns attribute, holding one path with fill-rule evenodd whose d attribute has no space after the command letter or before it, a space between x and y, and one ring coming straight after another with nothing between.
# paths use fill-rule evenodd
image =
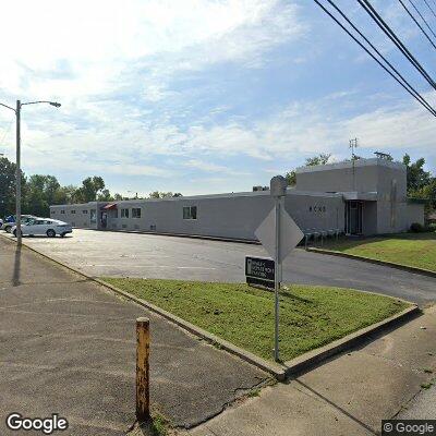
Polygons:
<instances>
[{"instance_id":1,"label":"blank grey back of the diamond-shaped sign on a pole","mask_svg":"<svg viewBox=\"0 0 436 436\"><path fill-rule=\"evenodd\" d=\"M274 208L264 219L262 225L254 232L256 238L262 242L268 254L275 258L276 256L276 208ZM280 207L280 253L278 262L281 263L286 256L294 249L304 238L304 233L296 226L295 221Z\"/></svg>"}]
</instances>

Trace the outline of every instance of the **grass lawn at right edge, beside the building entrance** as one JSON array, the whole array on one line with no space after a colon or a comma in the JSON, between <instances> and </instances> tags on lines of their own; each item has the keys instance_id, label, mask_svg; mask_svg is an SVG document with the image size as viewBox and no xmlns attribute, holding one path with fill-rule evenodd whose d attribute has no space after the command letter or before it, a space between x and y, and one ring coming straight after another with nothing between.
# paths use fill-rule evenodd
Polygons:
<instances>
[{"instance_id":1,"label":"grass lawn at right edge, beside the building entrance","mask_svg":"<svg viewBox=\"0 0 436 436\"><path fill-rule=\"evenodd\" d=\"M331 242L324 249L436 271L435 232Z\"/></svg>"}]
</instances>

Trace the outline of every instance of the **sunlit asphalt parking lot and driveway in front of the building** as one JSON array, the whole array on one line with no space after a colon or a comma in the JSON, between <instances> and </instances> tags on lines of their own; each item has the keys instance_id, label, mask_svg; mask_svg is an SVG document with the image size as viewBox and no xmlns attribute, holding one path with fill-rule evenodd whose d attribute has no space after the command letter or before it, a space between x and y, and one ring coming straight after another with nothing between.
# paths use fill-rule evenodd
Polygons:
<instances>
[{"instance_id":1,"label":"sunlit asphalt parking lot and driveway in front of the building","mask_svg":"<svg viewBox=\"0 0 436 436\"><path fill-rule=\"evenodd\" d=\"M63 239L34 237L23 241L95 277L240 282L245 280L245 255L267 256L261 245L82 229ZM302 249L286 259L283 281L382 292L421 305L436 301L433 278Z\"/></svg>"}]
</instances>

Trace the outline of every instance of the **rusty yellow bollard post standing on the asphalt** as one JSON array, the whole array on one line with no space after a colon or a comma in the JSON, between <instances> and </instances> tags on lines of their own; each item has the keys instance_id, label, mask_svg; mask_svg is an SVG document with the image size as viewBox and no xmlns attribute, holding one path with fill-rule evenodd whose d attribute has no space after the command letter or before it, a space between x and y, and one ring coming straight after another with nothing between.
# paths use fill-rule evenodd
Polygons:
<instances>
[{"instance_id":1,"label":"rusty yellow bollard post standing on the asphalt","mask_svg":"<svg viewBox=\"0 0 436 436\"><path fill-rule=\"evenodd\" d=\"M136 419L149 420L149 319L136 319Z\"/></svg>"}]
</instances>

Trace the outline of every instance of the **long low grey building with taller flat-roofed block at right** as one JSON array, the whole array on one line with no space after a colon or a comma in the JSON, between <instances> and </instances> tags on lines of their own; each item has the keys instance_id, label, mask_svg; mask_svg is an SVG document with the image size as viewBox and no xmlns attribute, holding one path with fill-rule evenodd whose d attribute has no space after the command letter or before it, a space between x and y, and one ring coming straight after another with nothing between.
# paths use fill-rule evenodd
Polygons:
<instances>
[{"instance_id":1,"label":"long low grey building with taller flat-roofed block at right","mask_svg":"<svg viewBox=\"0 0 436 436\"><path fill-rule=\"evenodd\" d=\"M405 166L359 159L295 170L284 206L303 231L379 234L424 223L424 205L407 198ZM191 197L92 202L50 206L52 218L73 227L255 239L272 208L269 191Z\"/></svg>"}]
</instances>

